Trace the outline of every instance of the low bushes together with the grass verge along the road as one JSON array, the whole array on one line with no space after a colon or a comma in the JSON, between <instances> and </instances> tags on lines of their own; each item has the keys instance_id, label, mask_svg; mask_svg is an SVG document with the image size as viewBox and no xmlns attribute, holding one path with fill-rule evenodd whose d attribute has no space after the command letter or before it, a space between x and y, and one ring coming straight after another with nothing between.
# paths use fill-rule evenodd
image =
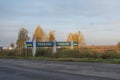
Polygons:
<instances>
[{"instance_id":1,"label":"low bushes together with the grass verge along the road","mask_svg":"<svg viewBox=\"0 0 120 80\"><path fill-rule=\"evenodd\" d=\"M27 56L26 56L26 51L28 52ZM53 54L51 48L38 48L35 56L36 57L32 57L31 48L23 49L21 56L17 55L16 49L0 51L1 58L120 63L119 51L106 51L104 53L97 53L91 49L81 49L81 50L58 49L57 53Z\"/></svg>"}]
</instances>

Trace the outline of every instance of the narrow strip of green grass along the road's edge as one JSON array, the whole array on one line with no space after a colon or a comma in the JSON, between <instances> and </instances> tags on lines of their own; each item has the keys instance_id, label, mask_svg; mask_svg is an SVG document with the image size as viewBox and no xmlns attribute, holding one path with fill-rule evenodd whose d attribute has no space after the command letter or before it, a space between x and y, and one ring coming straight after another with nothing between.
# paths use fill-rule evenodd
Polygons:
<instances>
[{"instance_id":1,"label":"narrow strip of green grass along the road's edge","mask_svg":"<svg viewBox=\"0 0 120 80\"><path fill-rule=\"evenodd\" d=\"M92 62L92 63L114 63L114 64L120 64L120 59L48 58L48 57L20 57L20 56L0 56L0 58L5 58L5 59L22 59L22 60L47 60L47 61Z\"/></svg>"}]
</instances>

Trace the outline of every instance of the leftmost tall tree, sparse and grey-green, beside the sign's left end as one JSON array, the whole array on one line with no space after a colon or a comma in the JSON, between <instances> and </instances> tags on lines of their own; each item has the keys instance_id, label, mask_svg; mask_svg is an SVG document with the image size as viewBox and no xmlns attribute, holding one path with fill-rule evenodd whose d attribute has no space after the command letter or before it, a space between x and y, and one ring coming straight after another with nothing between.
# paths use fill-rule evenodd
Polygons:
<instances>
[{"instance_id":1,"label":"leftmost tall tree, sparse and grey-green, beside the sign's left end","mask_svg":"<svg viewBox=\"0 0 120 80\"><path fill-rule=\"evenodd\" d=\"M19 55L22 53L22 49L25 46L25 42L29 40L28 37L28 31L25 28L20 28L19 33L18 33L18 39L16 41L17 49Z\"/></svg>"}]
</instances>

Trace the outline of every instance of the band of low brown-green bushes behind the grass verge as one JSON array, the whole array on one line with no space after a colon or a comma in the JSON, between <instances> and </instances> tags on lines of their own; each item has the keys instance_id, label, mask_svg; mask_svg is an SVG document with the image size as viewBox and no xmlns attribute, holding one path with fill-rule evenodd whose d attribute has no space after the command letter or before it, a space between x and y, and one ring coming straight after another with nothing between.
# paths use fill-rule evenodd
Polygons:
<instances>
[{"instance_id":1,"label":"band of low brown-green bushes behind the grass verge","mask_svg":"<svg viewBox=\"0 0 120 80\"><path fill-rule=\"evenodd\" d=\"M22 49L21 56L32 56L32 49ZM4 56L19 56L17 55L17 49L2 50L0 55ZM37 48L36 57L49 57L49 58L94 58L94 59L120 59L119 51L106 51L104 53L97 53L91 49L57 49L57 52L52 53L51 48Z\"/></svg>"}]
</instances>

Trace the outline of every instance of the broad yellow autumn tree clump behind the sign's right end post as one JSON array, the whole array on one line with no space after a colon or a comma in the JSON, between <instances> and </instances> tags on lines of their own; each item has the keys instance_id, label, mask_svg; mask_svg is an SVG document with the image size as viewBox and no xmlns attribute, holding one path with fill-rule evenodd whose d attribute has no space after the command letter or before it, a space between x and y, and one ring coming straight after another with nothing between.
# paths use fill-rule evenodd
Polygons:
<instances>
[{"instance_id":1,"label":"broad yellow autumn tree clump behind the sign's right end post","mask_svg":"<svg viewBox=\"0 0 120 80\"><path fill-rule=\"evenodd\" d=\"M67 41L78 42L78 47L85 46L85 39L80 31L77 33L70 33L67 37Z\"/></svg>"}]
</instances>

